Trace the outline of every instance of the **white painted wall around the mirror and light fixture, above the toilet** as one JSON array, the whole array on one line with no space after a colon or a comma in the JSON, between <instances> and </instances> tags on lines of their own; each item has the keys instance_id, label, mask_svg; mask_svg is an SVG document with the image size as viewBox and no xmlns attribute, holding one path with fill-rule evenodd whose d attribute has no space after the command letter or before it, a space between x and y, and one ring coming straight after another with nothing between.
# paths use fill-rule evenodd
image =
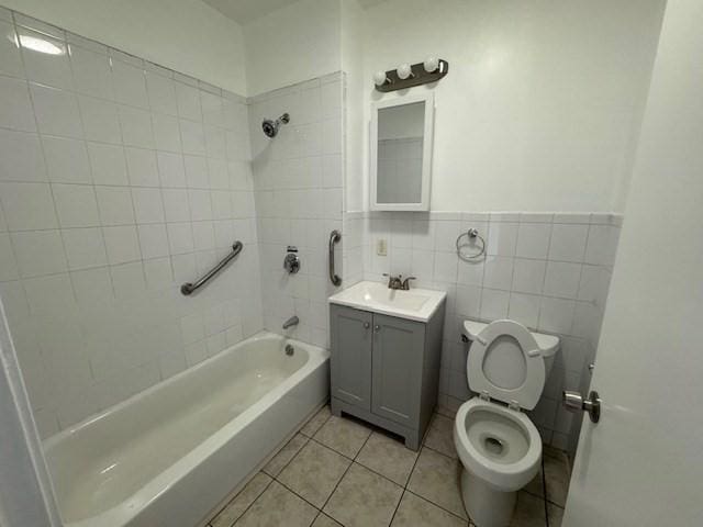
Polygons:
<instances>
[{"instance_id":1,"label":"white painted wall around the mirror and light fixture, above the toilet","mask_svg":"<svg viewBox=\"0 0 703 527\"><path fill-rule=\"evenodd\" d=\"M364 22L366 122L383 97L373 71L437 55L450 68L434 88L433 210L622 211L662 9L661 0L382 2ZM368 203L366 157L360 165L348 210Z\"/></svg>"}]
</instances>

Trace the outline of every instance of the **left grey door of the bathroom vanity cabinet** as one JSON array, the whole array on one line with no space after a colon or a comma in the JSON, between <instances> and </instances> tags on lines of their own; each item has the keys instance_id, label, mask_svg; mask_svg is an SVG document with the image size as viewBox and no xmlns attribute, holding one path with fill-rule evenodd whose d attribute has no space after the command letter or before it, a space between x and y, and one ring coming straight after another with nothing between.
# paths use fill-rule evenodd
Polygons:
<instances>
[{"instance_id":1,"label":"left grey door of the bathroom vanity cabinet","mask_svg":"<svg viewBox=\"0 0 703 527\"><path fill-rule=\"evenodd\" d=\"M332 396L371 410L371 313L332 305Z\"/></svg>"}]
</instances>

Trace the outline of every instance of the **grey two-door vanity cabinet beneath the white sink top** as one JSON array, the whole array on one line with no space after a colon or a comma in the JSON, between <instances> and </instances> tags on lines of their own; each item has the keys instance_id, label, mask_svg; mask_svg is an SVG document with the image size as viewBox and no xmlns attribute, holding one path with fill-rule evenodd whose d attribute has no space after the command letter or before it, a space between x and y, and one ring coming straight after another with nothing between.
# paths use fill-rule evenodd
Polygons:
<instances>
[{"instance_id":1,"label":"grey two-door vanity cabinet beneath the white sink top","mask_svg":"<svg viewBox=\"0 0 703 527\"><path fill-rule=\"evenodd\" d=\"M427 322L331 305L332 413L386 428L417 450L437 402L444 303Z\"/></svg>"}]
</instances>

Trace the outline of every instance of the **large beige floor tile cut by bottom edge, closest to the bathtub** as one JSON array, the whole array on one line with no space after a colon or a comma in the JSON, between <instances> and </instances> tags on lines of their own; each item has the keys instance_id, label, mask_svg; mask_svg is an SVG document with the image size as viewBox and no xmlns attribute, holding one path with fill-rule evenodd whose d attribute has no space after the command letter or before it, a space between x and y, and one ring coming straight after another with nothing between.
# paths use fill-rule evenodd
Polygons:
<instances>
[{"instance_id":1,"label":"large beige floor tile cut by bottom edge, closest to the bathtub","mask_svg":"<svg viewBox=\"0 0 703 527\"><path fill-rule=\"evenodd\" d=\"M309 527L317 509L274 481L235 524L236 527Z\"/></svg>"}]
</instances>

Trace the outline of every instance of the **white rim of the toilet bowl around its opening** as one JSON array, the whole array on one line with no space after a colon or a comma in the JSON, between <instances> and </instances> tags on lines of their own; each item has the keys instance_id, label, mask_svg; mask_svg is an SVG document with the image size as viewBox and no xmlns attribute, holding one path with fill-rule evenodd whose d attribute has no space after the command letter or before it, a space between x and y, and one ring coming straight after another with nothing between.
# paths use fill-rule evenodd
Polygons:
<instances>
[{"instance_id":1,"label":"white rim of the toilet bowl around its opening","mask_svg":"<svg viewBox=\"0 0 703 527\"><path fill-rule=\"evenodd\" d=\"M522 431L526 442L524 455L512 462L500 462L477 448L469 428L482 418L495 417ZM455 418L454 444L467 470L502 492L517 491L532 481L539 469L542 438L537 427L522 412L498 403L473 397L459 406Z\"/></svg>"}]
</instances>

